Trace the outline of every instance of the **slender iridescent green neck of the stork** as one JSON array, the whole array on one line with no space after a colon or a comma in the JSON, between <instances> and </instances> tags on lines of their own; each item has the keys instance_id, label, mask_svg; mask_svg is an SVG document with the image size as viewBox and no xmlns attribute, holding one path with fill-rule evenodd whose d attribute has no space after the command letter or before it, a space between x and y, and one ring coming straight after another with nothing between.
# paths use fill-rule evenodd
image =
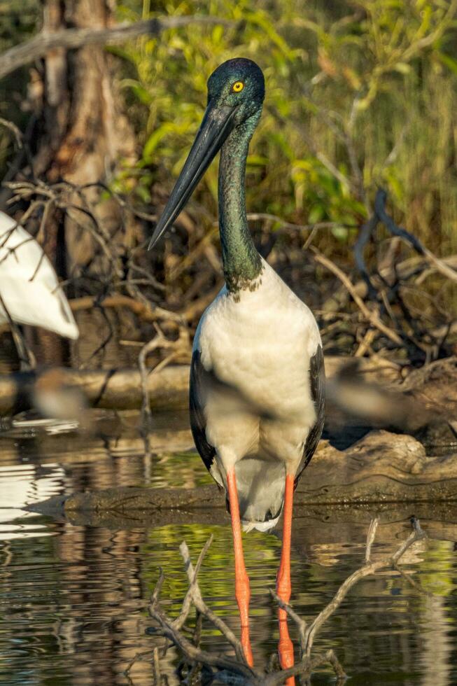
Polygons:
<instances>
[{"instance_id":1,"label":"slender iridescent green neck of the stork","mask_svg":"<svg viewBox=\"0 0 457 686\"><path fill-rule=\"evenodd\" d=\"M259 119L260 110L232 131L220 152L219 230L225 283L230 293L253 290L262 271L262 260L248 229L244 190L249 141Z\"/></svg>"}]
</instances>

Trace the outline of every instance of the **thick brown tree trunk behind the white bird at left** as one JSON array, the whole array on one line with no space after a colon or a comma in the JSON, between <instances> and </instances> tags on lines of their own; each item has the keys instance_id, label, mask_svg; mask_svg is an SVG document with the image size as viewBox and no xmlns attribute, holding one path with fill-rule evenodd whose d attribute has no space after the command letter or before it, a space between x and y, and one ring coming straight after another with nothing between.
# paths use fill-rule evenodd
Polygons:
<instances>
[{"instance_id":1,"label":"thick brown tree trunk behind the white bird at left","mask_svg":"<svg viewBox=\"0 0 457 686\"><path fill-rule=\"evenodd\" d=\"M113 22L110 0L43 0L43 31L69 27L104 28ZM134 136L115 86L115 59L103 47L86 45L66 52L56 48L44 59L41 132L34 157L34 175L75 186L106 183L120 159L134 157ZM85 190L85 200L96 200L97 188ZM80 204L80 198L69 198ZM52 209L52 208L51 208ZM99 204L97 218L109 235L119 228L118 208ZM82 213L71 218L50 211L43 248L65 278L88 265L94 255L91 220ZM58 260L58 255L65 255ZM100 261L93 265L103 269ZM106 265L105 265L106 267ZM67 346L49 332L38 331L38 361L64 363Z\"/></svg>"}]
</instances>

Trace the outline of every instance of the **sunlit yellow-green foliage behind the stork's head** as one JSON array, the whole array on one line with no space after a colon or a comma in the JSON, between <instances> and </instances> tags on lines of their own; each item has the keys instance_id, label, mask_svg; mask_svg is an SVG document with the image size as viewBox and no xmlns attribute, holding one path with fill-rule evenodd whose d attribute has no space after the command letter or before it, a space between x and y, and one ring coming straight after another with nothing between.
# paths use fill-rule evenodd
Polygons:
<instances>
[{"instance_id":1,"label":"sunlit yellow-green foliage behind the stork's head","mask_svg":"<svg viewBox=\"0 0 457 686\"><path fill-rule=\"evenodd\" d=\"M428 244L457 247L456 7L442 0L305 3L176 1L157 14L209 14L232 25L190 25L114 51L141 142L119 188L149 200L171 188L206 104L206 79L225 59L262 66L267 98L248 160L248 207L289 221L335 222L334 235L367 216L378 185ZM119 7L148 16L146 0ZM217 169L199 188L216 216ZM338 228L338 226L340 228ZM433 232L431 234L430 232ZM435 235L435 239L433 239Z\"/></svg>"}]
</instances>

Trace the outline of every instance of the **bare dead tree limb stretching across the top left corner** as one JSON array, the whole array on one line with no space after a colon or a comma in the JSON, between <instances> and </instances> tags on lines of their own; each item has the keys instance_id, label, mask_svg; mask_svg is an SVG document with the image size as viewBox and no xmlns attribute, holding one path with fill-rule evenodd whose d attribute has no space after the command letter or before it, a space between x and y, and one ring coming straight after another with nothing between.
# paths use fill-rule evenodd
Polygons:
<instances>
[{"instance_id":1,"label":"bare dead tree limb stretching across the top left corner","mask_svg":"<svg viewBox=\"0 0 457 686\"><path fill-rule=\"evenodd\" d=\"M43 57L47 52L56 48L76 50L84 45L112 45L143 34L158 36L166 29L178 29L190 24L234 25L233 22L217 17L193 15L190 17L148 19L134 24L118 24L106 29L64 29L54 33L41 31L38 36L34 36L30 41L15 45L3 52L3 55L0 56L0 78L7 76L8 73L19 69L24 64L33 62L34 59Z\"/></svg>"}]
</instances>

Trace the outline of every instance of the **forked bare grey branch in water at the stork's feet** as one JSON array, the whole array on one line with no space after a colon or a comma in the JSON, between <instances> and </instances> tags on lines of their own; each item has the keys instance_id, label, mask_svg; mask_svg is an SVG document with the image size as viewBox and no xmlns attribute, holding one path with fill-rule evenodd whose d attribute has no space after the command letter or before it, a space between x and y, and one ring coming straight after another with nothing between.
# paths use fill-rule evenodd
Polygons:
<instances>
[{"instance_id":1,"label":"forked bare grey branch in water at the stork's feet","mask_svg":"<svg viewBox=\"0 0 457 686\"><path fill-rule=\"evenodd\" d=\"M218 615L216 615L216 613L213 612L213 610L211 610L211 608L209 608L204 602L202 593L199 589L197 575L213 540L212 536L204 545L202 552L200 552L195 568L190 560L187 544L185 542L181 543L179 549L181 556L183 557L189 585L188 591L183 599L181 612L176 619L171 619L168 617L168 615L164 612L162 605L160 604L160 591L164 582L164 573L162 570L160 570L160 577L150 598L149 605L150 616L155 619L155 622L157 622L158 625L157 627L154 627L153 633L155 633L155 635L167 638L171 645L174 645L178 648L183 656L183 662L181 663L180 669L183 671L184 665L185 668L187 668L188 674L191 673L193 675L196 673L196 671L198 671L199 668L204 668L207 672L209 672L210 680L217 678L218 682L254 686L279 686L279 684L283 684L287 678L294 675L301 675L305 679L309 679L311 677L311 673L318 666L330 664L337 677L337 683L341 685L346 679L346 675L342 665L337 659L335 652L333 652L333 650L327 650L324 653L311 656L314 639L328 618L339 608L339 605L341 605L349 590L358 581L360 581L360 579L375 574L381 569L393 568L401 572L401 570L398 568L398 563L402 556L412 545L414 545L416 541L426 538L426 533L421 528L419 519L416 519L416 517L413 516L411 517L410 521L413 531L409 537L402 542L398 549L391 556L372 562L371 552L374 537L377 531L378 519L376 518L372 520L367 533L367 543L365 547L365 559L363 566L353 572L343 582L343 584L337 590L335 596L332 598L332 601L330 601L330 603L328 603L328 605L326 605L325 608L319 612L312 622L305 622L305 620L302 619L302 617L300 617L300 615L298 615L288 603L283 603L283 601L281 601L274 591L270 591L272 597L276 600L276 603L278 603L279 607L283 608L283 610L286 610L288 616L295 623L298 629L300 636L300 657L299 661L297 661L297 664L295 664L293 667L288 669L277 668L275 671L272 671L271 668L269 670L260 670L249 667L238 638L234 635L230 627L225 624L223 619L218 617ZM186 629L185 622L190 615L192 607L195 607L198 620L192 639L190 639L188 636L185 636L183 632L190 631L189 629ZM225 657L223 655L202 650L202 648L199 647L199 635L201 633L201 620L199 618L201 617L204 617L204 619L208 620L212 626L220 631L227 641L227 649L231 652L234 652L234 657ZM167 650L167 648L165 648L165 650ZM154 651L155 652L153 652L153 655L155 657L155 673L157 674L157 649L155 648ZM145 657L145 655L146 653L141 653L134 657L127 667L127 675L132 668L132 665L139 659ZM270 662L273 664L273 661ZM189 682L189 680L187 679L186 682Z\"/></svg>"}]
</instances>

